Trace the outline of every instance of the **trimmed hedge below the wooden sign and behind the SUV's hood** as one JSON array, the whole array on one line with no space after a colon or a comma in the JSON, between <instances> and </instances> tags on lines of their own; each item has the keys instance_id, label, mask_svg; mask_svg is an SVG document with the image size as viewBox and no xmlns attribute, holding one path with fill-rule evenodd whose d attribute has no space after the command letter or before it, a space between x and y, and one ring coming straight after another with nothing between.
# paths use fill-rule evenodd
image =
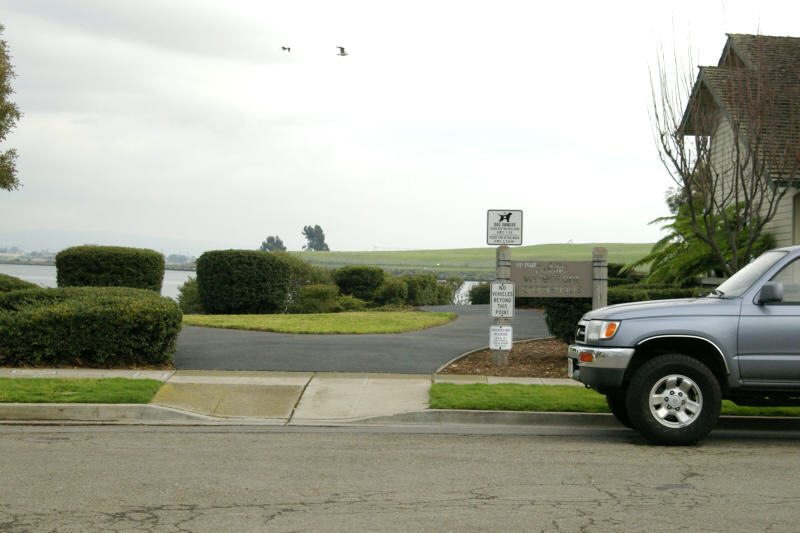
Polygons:
<instances>
[{"instance_id":1,"label":"trimmed hedge below the wooden sign and behind the SUV's hood","mask_svg":"<svg viewBox=\"0 0 800 533\"><path fill-rule=\"evenodd\" d=\"M608 305L673 298L696 298L709 292L703 288L651 287L620 285L608 289ZM543 298L544 320L554 337L566 343L575 340L575 328L581 317L591 311L592 300L586 298Z\"/></svg>"}]
</instances>

